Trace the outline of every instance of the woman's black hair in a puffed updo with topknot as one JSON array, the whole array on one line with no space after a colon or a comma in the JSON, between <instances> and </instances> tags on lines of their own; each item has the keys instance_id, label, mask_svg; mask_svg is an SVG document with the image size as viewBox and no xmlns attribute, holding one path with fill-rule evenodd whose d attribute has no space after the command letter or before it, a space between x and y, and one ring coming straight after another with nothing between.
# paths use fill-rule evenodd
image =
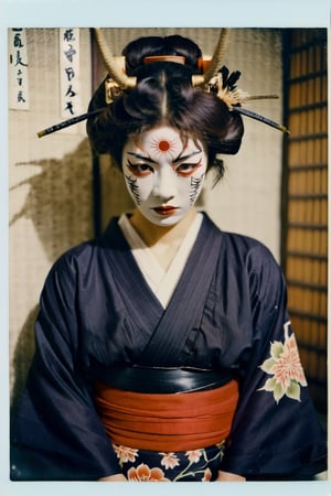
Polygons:
<instances>
[{"instance_id":1,"label":"woman's black hair in a puffed updo with topknot","mask_svg":"<svg viewBox=\"0 0 331 496\"><path fill-rule=\"evenodd\" d=\"M192 86L199 72L201 51L182 36L140 37L124 50L128 75L137 77L134 88L124 90L106 105L104 83L96 90L88 110L105 110L87 121L94 151L110 153L121 169L121 154L128 137L164 125L177 129L182 139L202 141L207 150L209 169L224 173L218 154L237 153L244 126L241 116L212 93ZM148 55L183 55L185 64L156 62L143 64Z\"/></svg>"}]
</instances>

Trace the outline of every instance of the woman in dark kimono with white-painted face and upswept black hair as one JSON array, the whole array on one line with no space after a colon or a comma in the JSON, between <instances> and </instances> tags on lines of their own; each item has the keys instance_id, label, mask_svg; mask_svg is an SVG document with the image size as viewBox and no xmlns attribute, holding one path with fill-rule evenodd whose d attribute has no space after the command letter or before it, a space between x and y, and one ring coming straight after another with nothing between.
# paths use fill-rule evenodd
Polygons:
<instances>
[{"instance_id":1,"label":"woman in dark kimono with white-painted face and upswept black hair","mask_svg":"<svg viewBox=\"0 0 331 496\"><path fill-rule=\"evenodd\" d=\"M194 209L241 147L238 73L195 87L202 54L181 36L124 54L130 87L102 84L87 132L136 208L47 277L12 478L309 478L325 444L281 271Z\"/></svg>"}]
</instances>

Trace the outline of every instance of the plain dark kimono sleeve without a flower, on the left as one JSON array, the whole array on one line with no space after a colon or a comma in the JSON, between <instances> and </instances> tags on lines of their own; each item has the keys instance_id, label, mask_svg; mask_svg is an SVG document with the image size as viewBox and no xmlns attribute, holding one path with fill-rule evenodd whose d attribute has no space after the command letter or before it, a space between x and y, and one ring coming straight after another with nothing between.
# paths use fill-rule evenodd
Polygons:
<instances>
[{"instance_id":1,"label":"plain dark kimono sleeve without a flower, on the left","mask_svg":"<svg viewBox=\"0 0 331 496\"><path fill-rule=\"evenodd\" d=\"M119 473L79 374L74 257L55 263L35 323L35 355L11 430L12 479L97 479Z\"/></svg>"}]
</instances>

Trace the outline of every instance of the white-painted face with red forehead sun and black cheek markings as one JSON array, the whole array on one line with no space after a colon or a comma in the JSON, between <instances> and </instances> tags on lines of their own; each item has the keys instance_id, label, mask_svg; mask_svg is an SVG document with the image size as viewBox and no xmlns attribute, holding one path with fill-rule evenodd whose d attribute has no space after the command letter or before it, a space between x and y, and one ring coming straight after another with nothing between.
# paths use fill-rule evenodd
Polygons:
<instances>
[{"instance_id":1,"label":"white-painted face with red forehead sun and black cheek markings","mask_svg":"<svg viewBox=\"0 0 331 496\"><path fill-rule=\"evenodd\" d=\"M179 132L162 126L130 138L122 153L127 187L141 214L159 226L172 226L196 202L207 157L201 142L183 144Z\"/></svg>"}]
</instances>

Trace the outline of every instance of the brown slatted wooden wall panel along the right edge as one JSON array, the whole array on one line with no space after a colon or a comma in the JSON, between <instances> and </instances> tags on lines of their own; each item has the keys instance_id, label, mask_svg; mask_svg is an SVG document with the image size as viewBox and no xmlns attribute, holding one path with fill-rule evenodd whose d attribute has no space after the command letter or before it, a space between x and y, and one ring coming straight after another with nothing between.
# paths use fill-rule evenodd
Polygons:
<instances>
[{"instance_id":1,"label":"brown slatted wooden wall panel along the right edge","mask_svg":"<svg viewBox=\"0 0 331 496\"><path fill-rule=\"evenodd\" d=\"M327 31L288 30L282 265L290 317L318 410L327 412L328 75Z\"/></svg>"}]
</instances>

